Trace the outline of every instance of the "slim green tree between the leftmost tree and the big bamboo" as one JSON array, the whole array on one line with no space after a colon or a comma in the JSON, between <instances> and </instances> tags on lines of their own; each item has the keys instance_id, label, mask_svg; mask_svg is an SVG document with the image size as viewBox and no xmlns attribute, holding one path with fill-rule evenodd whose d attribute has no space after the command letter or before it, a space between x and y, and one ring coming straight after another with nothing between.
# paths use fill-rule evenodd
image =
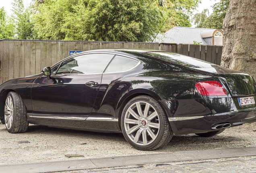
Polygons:
<instances>
[{"instance_id":1,"label":"slim green tree between the leftmost tree and the big bamboo","mask_svg":"<svg viewBox=\"0 0 256 173\"><path fill-rule=\"evenodd\" d=\"M31 8L25 8L23 0L14 0L12 2L12 20L15 25L15 35L17 39L32 39L33 24Z\"/></svg>"}]
</instances>

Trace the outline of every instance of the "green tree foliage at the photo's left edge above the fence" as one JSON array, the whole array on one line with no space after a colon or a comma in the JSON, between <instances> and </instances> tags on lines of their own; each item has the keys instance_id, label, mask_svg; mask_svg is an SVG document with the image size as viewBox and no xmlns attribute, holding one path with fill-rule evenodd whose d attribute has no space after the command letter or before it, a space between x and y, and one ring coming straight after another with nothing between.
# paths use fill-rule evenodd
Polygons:
<instances>
[{"instance_id":1,"label":"green tree foliage at the photo's left edge above the fence","mask_svg":"<svg viewBox=\"0 0 256 173\"><path fill-rule=\"evenodd\" d=\"M14 36L14 24L4 10L4 7L0 8L0 39L11 39Z\"/></svg>"}]
</instances>

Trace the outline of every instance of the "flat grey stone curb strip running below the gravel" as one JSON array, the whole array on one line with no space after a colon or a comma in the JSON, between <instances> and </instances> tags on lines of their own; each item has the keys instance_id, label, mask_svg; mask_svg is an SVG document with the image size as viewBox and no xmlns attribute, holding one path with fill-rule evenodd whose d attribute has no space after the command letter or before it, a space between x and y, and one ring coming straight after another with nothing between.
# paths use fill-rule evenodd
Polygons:
<instances>
[{"instance_id":1,"label":"flat grey stone curb strip running below the gravel","mask_svg":"<svg viewBox=\"0 0 256 173\"><path fill-rule=\"evenodd\" d=\"M165 163L178 161L193 161L202 159L221 159L228 157L255 156L256 147L209 149L197 151L180 151L147 155L132 155L119 157L102 157L94 159L79 159L70 161L48 161L39 163L19 163L0 165L1 173L42 173L56 171L72 171L103 167L120 167L149 163Z\"/></svg>"}]
</instances>

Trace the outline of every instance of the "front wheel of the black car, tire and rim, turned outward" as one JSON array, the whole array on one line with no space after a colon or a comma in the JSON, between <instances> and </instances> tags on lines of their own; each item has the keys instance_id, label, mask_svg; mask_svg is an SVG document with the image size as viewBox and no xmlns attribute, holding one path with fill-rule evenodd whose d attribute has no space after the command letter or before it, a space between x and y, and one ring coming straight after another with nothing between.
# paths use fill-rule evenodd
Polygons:
<instances>
[{"instance_id":1,"label":"front wheel of the black car, tire and rim, turned outward","mask_svg":"<svg viewBox=\"0 0 256 173\"><path fill-rule=\"evenodd\" d=\"M10 101L11 99L11 101ZM16 92L9 92L4 102L4 121L9 133L22 133L27 131L27 108Z\"/></svg>"}]
</instances>

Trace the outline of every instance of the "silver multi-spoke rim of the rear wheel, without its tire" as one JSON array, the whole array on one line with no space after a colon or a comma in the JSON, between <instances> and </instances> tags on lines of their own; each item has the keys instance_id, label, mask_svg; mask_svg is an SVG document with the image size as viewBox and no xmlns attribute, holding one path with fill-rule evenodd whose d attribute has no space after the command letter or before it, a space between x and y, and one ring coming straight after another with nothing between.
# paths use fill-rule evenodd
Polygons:
<instances>
[{"instance_id":1,"label":"silver multi-spoke rim of the rear wheel, without its tire","mask_svg":"<svg viewBox=\"0 0 256 173\"><path fill-rule=\"evenodd\" d=\"M127 109L124 116L124 129L133 143L149 145L157 138L159 128L159 115L151 104L137 101Z\"/></svg>"}]
</instances>

